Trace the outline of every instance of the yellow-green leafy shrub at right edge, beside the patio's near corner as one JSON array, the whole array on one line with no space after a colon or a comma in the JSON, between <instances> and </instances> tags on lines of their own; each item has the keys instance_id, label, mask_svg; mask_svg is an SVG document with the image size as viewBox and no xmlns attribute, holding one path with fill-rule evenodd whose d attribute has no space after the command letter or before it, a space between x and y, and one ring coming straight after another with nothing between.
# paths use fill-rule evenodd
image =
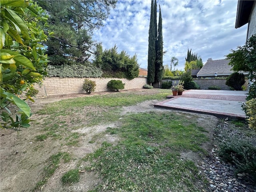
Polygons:
<instances>
[{"instance_id":1,"label":"yellow-green leafy shrub at right edge, beside the patio's near corner","mask_svg":"<svg viewBox=\"0 0 256 192\"><path fill-rule=\"evenodd\" d=\"M256 130L256 98L248 100L242 107L248 117L249 127Z\"/></svg>"}]
</instances>

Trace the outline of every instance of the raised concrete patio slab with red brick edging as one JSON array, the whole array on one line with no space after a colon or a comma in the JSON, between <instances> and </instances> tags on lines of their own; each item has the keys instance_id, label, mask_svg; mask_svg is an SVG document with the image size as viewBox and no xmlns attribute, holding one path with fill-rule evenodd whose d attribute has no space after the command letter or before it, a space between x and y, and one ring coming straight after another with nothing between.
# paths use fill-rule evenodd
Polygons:
<instances>
[{"instance_id":1,"label":"raised concrete patio slab with red brick edging","mask_svg":"<svg viewBox=\"0 0 256 192\"><path fill-rule=\"evenodd\" d=\"M246 118L242 103L246 91L188 90L181 96L167 96L168 100L154 104L154 107L200 112L216 116Z\"/></svg>"}]
</instances>

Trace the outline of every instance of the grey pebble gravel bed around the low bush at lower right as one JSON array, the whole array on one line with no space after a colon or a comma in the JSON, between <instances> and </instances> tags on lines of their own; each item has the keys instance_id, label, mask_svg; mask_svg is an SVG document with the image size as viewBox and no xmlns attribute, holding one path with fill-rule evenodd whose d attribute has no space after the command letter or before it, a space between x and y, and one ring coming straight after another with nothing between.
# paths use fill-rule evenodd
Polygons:
<instances>
[{"instance_id":1,"label":"grey pebble gravel bed around the low bush at lower right","mask_svg":"<svg viewBox=\"0 0 256 192\"><path fill-rule=\"evenodd\" d=\"M218 157L219 145L227 140L246 140L256 144L256 132L246 126L239 127L231 122L221 122L214 129L214 146L199 168L208 180L209 192L256 192L256 182L248 174L235 174L235 166Z\"/></svg>"}]
</instances>

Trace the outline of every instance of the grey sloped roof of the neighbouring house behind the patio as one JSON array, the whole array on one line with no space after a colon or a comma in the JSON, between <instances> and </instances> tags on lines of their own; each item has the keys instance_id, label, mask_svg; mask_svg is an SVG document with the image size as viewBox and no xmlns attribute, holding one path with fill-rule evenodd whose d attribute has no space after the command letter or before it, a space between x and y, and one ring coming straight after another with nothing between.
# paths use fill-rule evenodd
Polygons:
<instances>
[{"instance_id":1,"label":"grey sloped roof of the neighbouring house behind the patio","mask_svg":"<svg viewBox=\"0 0 256 192\"><path fill-rule=\"evenodd\" d=\"M220 59L220 60L212 60L209 58L204 66L197 73L197 76L226 76L233 73L231 70L231 66L228 65L230 60Z\"/></svg>"}]
</instances>

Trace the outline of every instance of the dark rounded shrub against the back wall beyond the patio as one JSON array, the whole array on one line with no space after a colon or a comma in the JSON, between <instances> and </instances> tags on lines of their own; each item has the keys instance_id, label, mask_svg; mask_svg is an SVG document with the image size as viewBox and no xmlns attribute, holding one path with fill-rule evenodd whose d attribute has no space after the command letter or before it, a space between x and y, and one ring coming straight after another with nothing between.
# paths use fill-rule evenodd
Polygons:
<instances>
[{"instance_id":1,"label":"dark rounded shrub against the back wall beyond the patio","mask_svg":"<svg viewBox=\"0 0 256 192\"><path fill-rule=\"evenodd\" d=\"M227 77L226 85L234 88L234 90L242 90L242 85L245 83L244 74L234 72Z\"/></svg>"}]
</instances>

